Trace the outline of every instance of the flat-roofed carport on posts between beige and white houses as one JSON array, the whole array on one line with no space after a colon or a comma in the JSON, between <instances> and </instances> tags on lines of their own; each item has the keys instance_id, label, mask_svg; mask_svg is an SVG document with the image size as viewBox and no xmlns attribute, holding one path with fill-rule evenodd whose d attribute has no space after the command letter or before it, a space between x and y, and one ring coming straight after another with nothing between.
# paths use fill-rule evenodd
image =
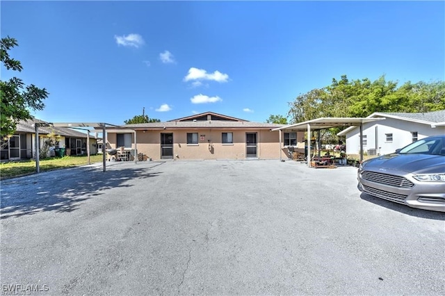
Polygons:
<instances>
[{"instance_id":1,"label":"flat-roofed carport on posts between beige and white houses","mask_svg":"<svg viewBox=\"0 0 445 296\"><path fill-rule=\"evenodd\" d=\"M311 155L311 143L310 134L311 131L318 131L320 135L320 130L330 129L337 126L359 126L360 128L360 138L363 138L363 124L366 122L375 122L378 120L385 120L385 117L381 118L364 118L364 117L320 117L315 120L308 120L307 122L300 122L298 124L289 124L286 126L278 127L277 129L272 129L271 131L280 132L280 161L282 161L281 147L282 147L282 131L307 131L307 155ZM360 141L360 161L363 161L363 142ZM307 158L307 166L311 166L311 160Z\"/></svg>"}]
</instances>

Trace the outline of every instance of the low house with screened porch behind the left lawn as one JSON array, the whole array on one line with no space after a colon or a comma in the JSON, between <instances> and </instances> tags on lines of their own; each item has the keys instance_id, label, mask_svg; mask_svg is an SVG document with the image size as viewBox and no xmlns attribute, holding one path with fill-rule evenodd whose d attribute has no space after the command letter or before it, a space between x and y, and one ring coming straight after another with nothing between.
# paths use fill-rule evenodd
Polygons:
<instances>
[{"instance_id":1,"label":"low house with screened porch behind the left lawn","mask_svg":"<svg viewBox=\"0 0 445 296\"><path fill-rule=\"evenodd\" d=\"M1 137L1 161L17 161L35 157L35 122L42 120L22 120L17 124L14 135ZM67 155L86 154L87 134L65 127L40 126L39 147L41 148L47 135L54 132L60 135L56 148L65 148ZM90 136L90 154L97 154L96 139Z\"/></svg>"}]
</instances>

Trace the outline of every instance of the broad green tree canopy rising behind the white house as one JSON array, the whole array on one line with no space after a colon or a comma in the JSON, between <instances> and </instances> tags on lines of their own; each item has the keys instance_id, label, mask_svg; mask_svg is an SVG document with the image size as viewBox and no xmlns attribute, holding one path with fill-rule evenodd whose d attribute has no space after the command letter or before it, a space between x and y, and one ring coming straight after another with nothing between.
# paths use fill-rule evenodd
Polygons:
<instances>
[{"instance_id":1,"label":"broad green tree canopy rising behind the white house","mask_svg":"<svg viewBox=\"0 0 445 296\"><path fill-rule=\"evenodd\" d=\"M346 75L331 85L300 94L289 102L292 122L318 117L366 117L374 112L430 112L445 109L445 82L407 82L380 76L350 81Z\"/></svg>"}]
</instances>

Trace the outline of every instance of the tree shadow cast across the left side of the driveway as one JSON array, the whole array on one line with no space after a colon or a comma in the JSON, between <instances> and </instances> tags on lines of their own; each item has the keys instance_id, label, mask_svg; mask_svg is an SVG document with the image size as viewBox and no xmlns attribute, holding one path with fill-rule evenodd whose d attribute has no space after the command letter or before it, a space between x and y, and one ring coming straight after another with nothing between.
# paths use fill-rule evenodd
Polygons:
<instances>
[{"instance_id":1,"label":"tree shadow cast across the left side of the driveway","mask_svg":"<svg viewBox=\"0 0 445 296\"><path fill-rule=\"evenodd\" d=\"M128 181L160 174L152 167L75 167L42 172L1 182L0 219L44 211L72 212L83 202L111 188L131 187Z\"/></svg>"}]
</instances>

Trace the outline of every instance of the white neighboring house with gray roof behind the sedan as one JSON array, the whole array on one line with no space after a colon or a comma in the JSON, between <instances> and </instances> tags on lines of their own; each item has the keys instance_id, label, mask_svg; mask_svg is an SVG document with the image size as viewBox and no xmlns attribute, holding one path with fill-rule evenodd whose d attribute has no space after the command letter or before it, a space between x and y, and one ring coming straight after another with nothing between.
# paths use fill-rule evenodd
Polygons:
<instances>
[{"instance_id":1,"label":"white neighboring house with gray roof behind the sedan","mask_svg":"<svg viewBox=\"0 0 445 296\"><path fill-rule=\"evenodd\" d=\"M384 155L430 135L445 134L445 110L428 113L381 113L368 118L385 117L363 126L363 149L368 155ZM350 126L337 135L346 135L346 152L359 154L359 128Z\"/></svg>"}]
</instances>

